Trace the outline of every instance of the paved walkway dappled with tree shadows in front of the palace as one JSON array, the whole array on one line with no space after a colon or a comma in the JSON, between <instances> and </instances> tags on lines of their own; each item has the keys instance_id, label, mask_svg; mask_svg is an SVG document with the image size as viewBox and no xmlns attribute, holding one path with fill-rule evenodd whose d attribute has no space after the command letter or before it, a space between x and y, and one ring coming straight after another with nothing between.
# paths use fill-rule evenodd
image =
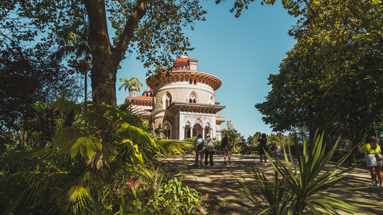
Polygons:
<instances>
[{"instance_id":1,"label":"paved walkway dappled with tree shadows in front of the palace","mask_svg":"<svg viewBox=\"0 0 383 215\"><path fill-rule=\"evenodd\" d=\"M274 179L274 168L268 164L267 166L257 165L259 163L259 155L232 155L231 165L225 165L223 155L214 155L214 168L199 169L193 167L194 155L184 155L175 157L174 159L166 159L162 161L162 164L168 164L170 168L170 174L174 177L179 175L182 170L182 164L185 164L187 168L184 169L184 177L190 181L193 181L196 185L196 189L202 194L208 193L209 196L217 199L221 199L225 202L225 206L217 211L217 214L245 214L246 209L235 204L231 201L242 201L244 203L252 205L252 202L246 197L242 196L235 190L235 187L240 187L235 178L241 179L244 177L250 184L256 184L254 175L251 169L253 165L258 171L263 171L270 180ZM284 160L281 158L280 160ZM325 169L331 167L335 163L329 162ZM174 165L174 166L173 166ZM347 166L341 166L340 170L348 168ZM370 171L367 166L360 166L355 169L358 171L355 174L348 176L344 181L337 184L334 188L350 188L357 186L368 186L370 182ZM341 190L333 191L333 194L340 194L347 198L356 199L353 203L360 203L358 200L377 200L375 204L381 205L377 208L365 208L372 214L383 214L383 187L369 187L364 190ZM348 202L348 201L346 201ZM363 203L360 203L363 204ZM341 214L348 214L341 212ZM248 214L255 214L255 212L249 212Z\"/></svg>"}]
</instances>

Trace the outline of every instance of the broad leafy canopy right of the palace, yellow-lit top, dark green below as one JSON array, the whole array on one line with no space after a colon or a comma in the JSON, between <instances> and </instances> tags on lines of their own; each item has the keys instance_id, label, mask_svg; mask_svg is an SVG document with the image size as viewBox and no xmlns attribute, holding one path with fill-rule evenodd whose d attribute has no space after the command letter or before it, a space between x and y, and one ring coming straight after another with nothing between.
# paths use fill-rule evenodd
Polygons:
<instances>
[{"instance_id":1,"label":"broad leafy canopy right of the palace, yellow-lit top, dark green below","mask_svg":"<svg viewBox=\"0 0 383 215\"><path fill-rule=\"evenodd\" d=\"M301 16L289 32L298 42L255 106L273 131L320 128L360 141L382 120L381 2L298 3L284 3Z\"/></svg>"}]
</instances>

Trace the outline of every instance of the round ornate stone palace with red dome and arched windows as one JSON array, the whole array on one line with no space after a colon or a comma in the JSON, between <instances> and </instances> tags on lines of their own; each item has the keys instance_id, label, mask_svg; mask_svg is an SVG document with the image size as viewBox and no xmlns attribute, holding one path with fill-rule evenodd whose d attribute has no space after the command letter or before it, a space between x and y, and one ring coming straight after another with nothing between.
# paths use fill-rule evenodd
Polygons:
<instances>
[{"instance_id":1,"label":"round ornate stone palace with red dome and arched windows","mask_svg":"<svg viewBox=\"0 0 383 215\"><path fill-rule=\"evenodd\" d=\"M160 128L169 140L184 140L199 134L221 140L220 125L227 118L220 117L219 111L226 106L214 98L222 80L198 71L197 62L182 56L174 61L170 75L164 74L157 81L147 79L149 88L141 96L133 91L132 107L141 120L152 122L153 134ZM125 102L129 102L129 97Z\"/></svg>"}]
</instances>

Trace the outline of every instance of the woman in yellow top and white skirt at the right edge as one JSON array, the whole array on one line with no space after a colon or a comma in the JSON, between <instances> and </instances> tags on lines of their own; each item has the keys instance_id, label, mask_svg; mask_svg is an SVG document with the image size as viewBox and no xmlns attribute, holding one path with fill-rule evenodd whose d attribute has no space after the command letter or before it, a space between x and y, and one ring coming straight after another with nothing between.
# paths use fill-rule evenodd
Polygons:
<instances>
[{"instance_id":1,"label":"woman in yellow top and white skirt at the right edge","mask_svg":"<svg viewBox=\"0 0 383 215\"><path fill-rule=\"evenodd\" d=\"M374 186L383 186L383 173L381 172L382 163L377 155L380 151L380 146L377 144L374 136L368 136L365 145L361 147L362 153L367 152L367 166L370 168L373 179L375 180L375 183L372 184ZM378 175L380 181L378 181Z\"/></svg>"}]
</instances>

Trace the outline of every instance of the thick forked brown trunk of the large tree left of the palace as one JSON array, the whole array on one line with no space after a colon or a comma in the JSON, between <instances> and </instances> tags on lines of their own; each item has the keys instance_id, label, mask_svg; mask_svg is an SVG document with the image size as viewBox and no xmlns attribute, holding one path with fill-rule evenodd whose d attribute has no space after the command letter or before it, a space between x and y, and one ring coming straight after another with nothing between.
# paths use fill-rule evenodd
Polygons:
<instances>
[{"instance_id":1,"label":"thick forked brown trunk of the large tree left of the palace","mask_svg":"<svg viewBox=\"0 0 383 215\"><path fill-rule=\"evenodd\" d=\"M117 106L116 74L117 68L125 55L134 28L146 14L148 0L138 0L133 13L125 24L118 44L113 47L109 40L104 0L85 0L89 17L89 46L92 50L91 87L93 102Z\"/></svg>"}]
</instances>

